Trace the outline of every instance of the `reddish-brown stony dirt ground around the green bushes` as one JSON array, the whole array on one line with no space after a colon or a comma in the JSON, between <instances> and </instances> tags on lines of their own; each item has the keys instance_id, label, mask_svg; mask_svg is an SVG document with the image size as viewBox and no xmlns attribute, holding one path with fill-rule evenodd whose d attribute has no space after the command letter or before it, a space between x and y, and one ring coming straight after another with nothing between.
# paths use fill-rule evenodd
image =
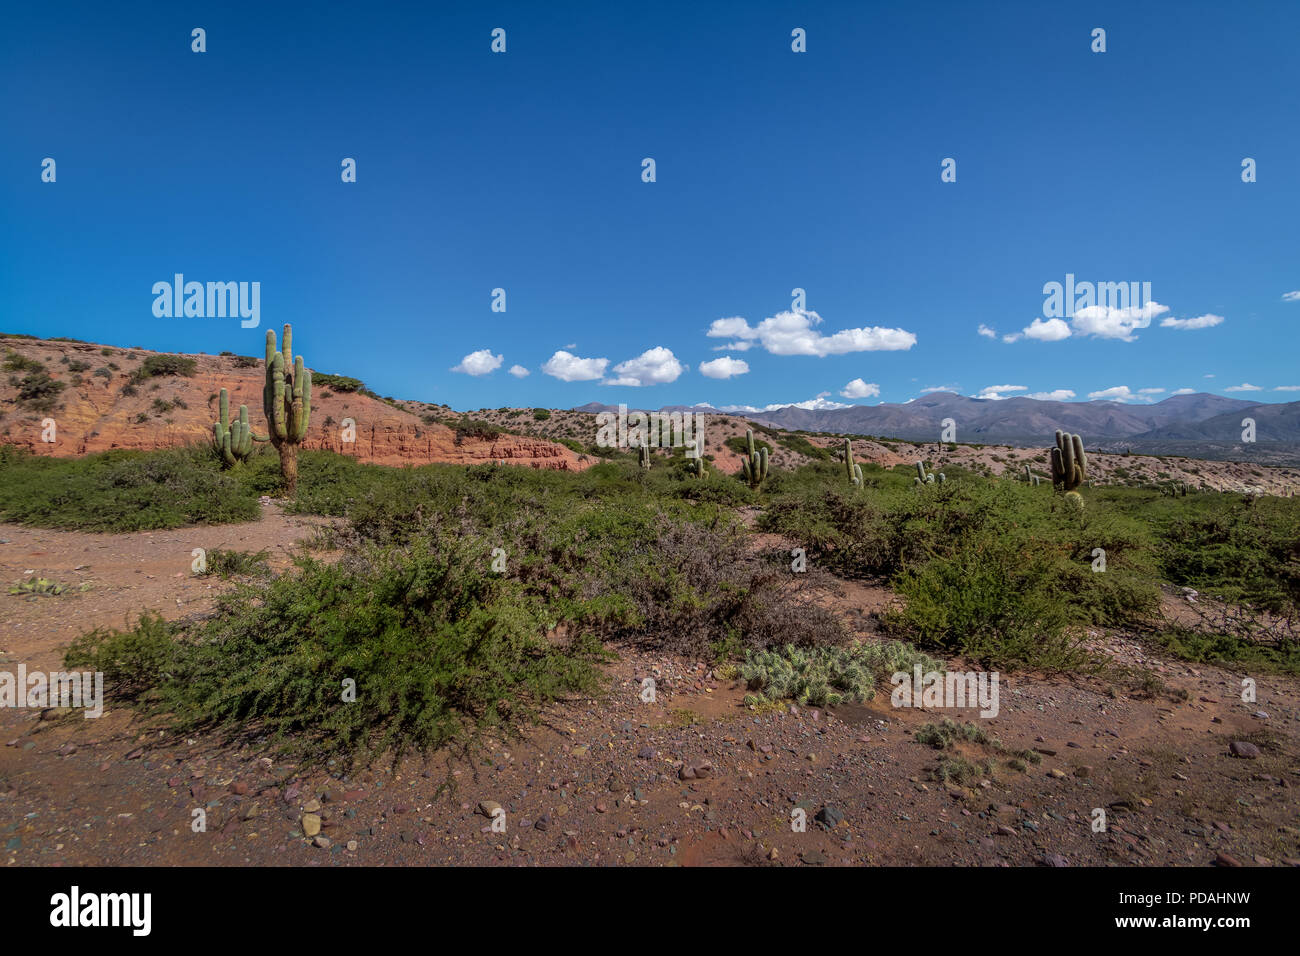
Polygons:
<instances>
[{"instance_id":1,"label":"reddish-brown stony dirt ground around the green bushes","mask_svg":"<svg viewBox=\"0 0 1300 956\"><path fill-rule=\"evenodd\" d=\"M131 535L0 525L5 584L32 574L88 588L0 592L0 669L60 666L62 649L142 610L203 614L229 584L190 572L195 548L290 563L320 522L265 505L260 522ZM6 591L6 589L5 589ZM862 636L888 591L848 584ZM1179 596L1169 596L1176 604ZM176 737L108 702L81 713L0 709L0 860L5 865L1300 865L1296 682L1242 676L1093 636L1169 692L1114 680L1002 675L1000 713L750 710L707 666L620 648L610 692L547 709L521 739L347 774L270 749ZM642 701L645 678L654 702ZM1179 700L1176 691L1184 691ZM914 740L971 719L1039 763L994 762L970 787L935 778ZM1234 756L1232 745L1247 756ZM1253 747L1243 747L1249 744ZM1253 756L1252 756L1253 752ZM498 804L494 831L491 819ZM195 810L205 814L196 832ZM1105 830L1096 831L1097 810ZM803 812L806 827L798 827ZM321 830L315 830L316 821ZM304 827L306 825L306 827Z\"/></svg>"}]
</instances>

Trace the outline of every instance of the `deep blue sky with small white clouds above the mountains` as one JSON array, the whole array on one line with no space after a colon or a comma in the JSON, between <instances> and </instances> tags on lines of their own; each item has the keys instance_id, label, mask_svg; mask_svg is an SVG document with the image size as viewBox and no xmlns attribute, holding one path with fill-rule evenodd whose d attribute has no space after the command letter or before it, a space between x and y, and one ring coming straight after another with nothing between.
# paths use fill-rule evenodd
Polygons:
<instances>
[{"instance_id":1,"label":"deep blue sky with small white clouds above the mountains","mask_svg":"<svg viewBox=\"0 0 1300 956\"><path fill-rule=\"evenodd\" d=\"M1295 401L1297 34L1294 3L10 5L0 329L260 355L289 321L458 408ZM260 328L156 316L176 273L260 282ZM1049 321L1066 274L1156 304Z\"/></svg>"}]
</instances>

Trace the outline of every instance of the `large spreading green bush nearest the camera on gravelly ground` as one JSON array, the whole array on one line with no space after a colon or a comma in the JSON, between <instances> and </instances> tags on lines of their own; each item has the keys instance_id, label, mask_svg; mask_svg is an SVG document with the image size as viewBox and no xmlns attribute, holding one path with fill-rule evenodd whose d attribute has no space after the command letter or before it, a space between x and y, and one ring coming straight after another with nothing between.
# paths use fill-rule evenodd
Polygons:
<instances>
[{"instance_id":1,"label":"large spreading green bush nearest the camera on gravelly ground","mask_svg":"<svg viewBox=\"0 0 1300 956\"><path fill-rule=\"evenodd\" d=\"M69 667L104 670L176 730L270 735L308 757L369 762L510 730L601 683L590 641L552 641L546 615L478 561L482 542L368 548L238 585L202 623L98 630ZM356 704L339 692L356 682Z\"/></svg>"}]
</instances>

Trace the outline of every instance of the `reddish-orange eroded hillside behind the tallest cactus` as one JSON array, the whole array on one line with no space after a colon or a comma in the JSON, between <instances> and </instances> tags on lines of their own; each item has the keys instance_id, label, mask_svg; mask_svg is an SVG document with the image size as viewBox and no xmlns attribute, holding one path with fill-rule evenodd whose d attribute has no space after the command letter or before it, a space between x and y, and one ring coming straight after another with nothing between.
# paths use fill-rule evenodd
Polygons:
<instances>
[{"instance_id":1,"label":"reddish-orange eroded hillside behind the tallest cactus","mask_svg":"<svg viewBox=\"0 0 1300 956\"><path fill-rule=\"evenodd\" d=\"M188 375L146 375L146 363L159 355L144 349L0 336L0 442L68 457L211 441L222 388L230 392L231 415L247 405L254 431L265 433L260 359L188 355L182 356L192 359ZM378 464L502 462L559 471L592 464L592 459L538 437L458 438L452 428L433 420L450 418L450 410L428 406L437 415L421 418L328 382L321 377L312 389L306 449L329 449ZM43 424L47 419L55 421L52 442ZM346 419L355 423L354 441L343 440Z\"/></svg>"}]
</instances>

